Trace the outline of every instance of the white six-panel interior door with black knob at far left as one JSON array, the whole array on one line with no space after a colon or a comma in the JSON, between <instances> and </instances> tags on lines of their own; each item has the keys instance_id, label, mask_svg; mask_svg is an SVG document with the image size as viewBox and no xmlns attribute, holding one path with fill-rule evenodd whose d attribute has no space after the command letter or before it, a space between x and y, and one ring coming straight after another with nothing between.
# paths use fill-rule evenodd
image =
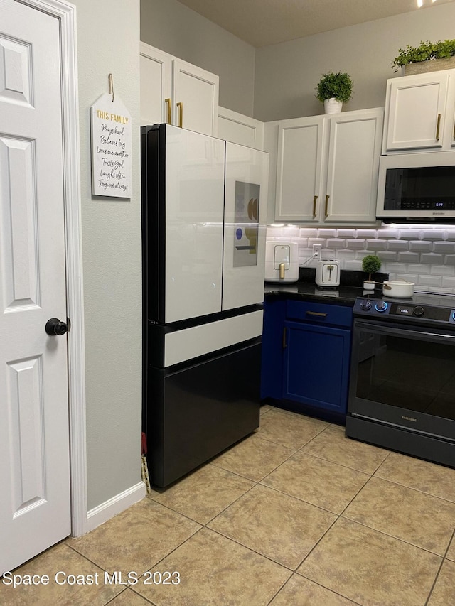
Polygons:
<instances>
[{"instance_id":1,"label":"white six-panel interior door with black knob at far left","mask_svg":"<svg viewBox=\"0 0 455 606\"><path fill-rule=\"evenodd\" d=\"M70 534L59 21L0 0L0 574Z\"/></svg>"}]
</instances>

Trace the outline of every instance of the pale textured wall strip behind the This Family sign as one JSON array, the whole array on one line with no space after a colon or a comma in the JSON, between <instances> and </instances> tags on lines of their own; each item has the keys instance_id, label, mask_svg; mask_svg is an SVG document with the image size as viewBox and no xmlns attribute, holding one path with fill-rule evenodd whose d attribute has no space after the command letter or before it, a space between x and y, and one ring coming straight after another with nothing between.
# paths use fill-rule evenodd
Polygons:
<instances>
[{"instance_id":1,"label":"pale textured wall strip behind the This Family sign","mask_svg":"<svg viewBox=\"0 0 455 606\"><path fill-rule=\"evenodd\" d=\"M139 0L77 10L88 509L141 480ZM133 197L92 197L89 108L114 92L132 114Z\"/></svg>"}]
</instances>

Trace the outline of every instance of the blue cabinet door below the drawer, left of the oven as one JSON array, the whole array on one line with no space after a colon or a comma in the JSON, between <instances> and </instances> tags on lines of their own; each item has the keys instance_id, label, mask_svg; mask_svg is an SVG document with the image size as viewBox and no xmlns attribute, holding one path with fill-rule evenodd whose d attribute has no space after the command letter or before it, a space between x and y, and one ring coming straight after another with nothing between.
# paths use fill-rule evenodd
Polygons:
<instances>
[{"instance_id":1,"label":"blue cabinet door below the drawer, left of the oven","mask_svg":"<svg viewBox=\"0 0 455 606\"><path fill-rule=\"evenodd\" d=\"M350 330L286 321L284 331L282 397L346 414Z\"/></svg>"}]
</instances>

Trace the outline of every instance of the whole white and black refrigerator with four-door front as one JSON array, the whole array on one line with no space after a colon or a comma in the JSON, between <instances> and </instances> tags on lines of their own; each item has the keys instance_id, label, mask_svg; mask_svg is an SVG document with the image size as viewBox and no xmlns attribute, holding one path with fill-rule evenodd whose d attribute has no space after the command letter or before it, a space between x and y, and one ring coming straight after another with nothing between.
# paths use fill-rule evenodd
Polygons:
<instances>
[{"instance_id":1,"label":"whole white and black refrigerator with four-door front","mask_svg":"<svg viewBox=\"0 0 455 606\"><path fill-rule=\"evenodd\" d=\"M143 428L164 487L259 426L268 154L141 128Z\"/></svg>"}]
</instances>

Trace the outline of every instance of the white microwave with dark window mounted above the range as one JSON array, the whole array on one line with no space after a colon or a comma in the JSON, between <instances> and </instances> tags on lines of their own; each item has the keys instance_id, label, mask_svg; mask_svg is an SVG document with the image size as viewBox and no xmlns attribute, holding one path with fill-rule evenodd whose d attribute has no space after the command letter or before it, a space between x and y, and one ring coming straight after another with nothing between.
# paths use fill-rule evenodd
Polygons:
<instances>
[{"instance_id":1,"label":"white microwave with dark window mounted above the range","mask_svg":"<svg viewBox=\"0 0 455 606\"><path fill-rule=\"evenodd\" d=\"M381 156L376 217L455 224L455 150Z\"/></svg>"}]
</instances>

